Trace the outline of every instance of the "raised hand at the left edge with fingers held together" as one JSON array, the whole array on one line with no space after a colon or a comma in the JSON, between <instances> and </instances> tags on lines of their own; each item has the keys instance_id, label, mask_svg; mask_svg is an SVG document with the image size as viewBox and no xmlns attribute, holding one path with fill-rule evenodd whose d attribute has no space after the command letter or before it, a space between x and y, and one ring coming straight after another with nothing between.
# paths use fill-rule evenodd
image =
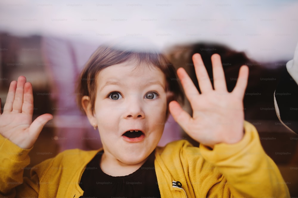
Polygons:
<instances>
[{"instance_id":1,"label":"raised hand at the left edge with fingers held together","mask_svg":"<svg viewBox=\"0 0 298 198\"><path fill-rule=\"evenodd\" d=\"M31 148L46 122L53 118L46 113L32 122L32 115L32 85L20 76L18 82L10 83L3 113L0 112L0 134L21 148Z\"/></svg>"}]
</instances>

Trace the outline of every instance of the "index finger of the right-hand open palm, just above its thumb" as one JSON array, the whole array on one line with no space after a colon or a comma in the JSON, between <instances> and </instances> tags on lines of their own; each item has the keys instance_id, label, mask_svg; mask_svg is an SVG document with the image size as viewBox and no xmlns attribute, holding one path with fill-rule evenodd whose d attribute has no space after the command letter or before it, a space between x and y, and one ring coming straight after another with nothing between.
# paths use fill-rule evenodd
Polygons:
<instances>
[{"instance_id":1,"label":"index finger of the right-hand open palm, just above its thumb","mask_svg":"<svg viewBox=\"0 0 298 198\"><path fill-rule=\"evenodd\" d=\"M193 81L190 79L189 75L183 68L179 68L177 70L177 75L181 81L187 99L190 103L195 102L193 101L193 96L198 96L199 92L193 84Z\"/></svg>"}]
</instances>

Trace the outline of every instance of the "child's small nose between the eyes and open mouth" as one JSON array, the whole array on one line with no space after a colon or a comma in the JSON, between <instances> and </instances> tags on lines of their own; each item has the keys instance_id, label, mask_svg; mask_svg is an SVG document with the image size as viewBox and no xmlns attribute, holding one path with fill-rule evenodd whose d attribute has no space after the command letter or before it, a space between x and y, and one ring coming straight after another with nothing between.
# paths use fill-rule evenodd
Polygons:
<instances>
[{"instance_id":1,"label":"child's small nose between the eyes and open mouth","mask_svg":"<svg viewBox=\"0 0 298 198\"><path fill-rule=\"evenodd\" d=\"M142 101L136 98L128 100L124 117L126 119L127 118L140 118L140 119L145 118Z\"/></svg>"}]
</instances>

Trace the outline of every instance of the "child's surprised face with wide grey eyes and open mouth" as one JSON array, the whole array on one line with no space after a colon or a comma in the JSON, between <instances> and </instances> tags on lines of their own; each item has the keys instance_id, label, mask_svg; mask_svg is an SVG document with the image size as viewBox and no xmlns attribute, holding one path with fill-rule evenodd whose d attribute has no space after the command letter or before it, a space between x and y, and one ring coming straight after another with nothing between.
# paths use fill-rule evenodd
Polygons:
<instances>
[{"instance_id":1,"label":"child's surprised face with wide grey eyes and open mouth","mask_svg":"<svg viewBox=\"0 0 298 198\"><path fill-rule=\"evenodd\" d=\"M98 126L105 155L124 164L137 164L149 156L166 121L165 88L163 72L143 63L136 68L130 61L100 71L94 114L88 117Z\"/></svg>"}]
</instances>

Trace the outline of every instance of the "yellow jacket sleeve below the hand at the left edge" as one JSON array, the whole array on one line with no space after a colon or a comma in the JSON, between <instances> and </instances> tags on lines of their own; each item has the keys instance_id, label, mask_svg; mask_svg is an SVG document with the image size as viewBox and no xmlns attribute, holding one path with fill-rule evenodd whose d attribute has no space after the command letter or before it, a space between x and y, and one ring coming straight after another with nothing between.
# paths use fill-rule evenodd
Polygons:
<instances>
[{"instance_id":1,"label":"yellow jacket sleeve below the hand at the left edge","mask_svg":"<svg viewBox=\"0 0 298 198\"><path fill-rule=\"evenodd\" d=\"M0 135L0 197L38 197L39 179L24 177L24 168L30 163L28 153Z\"/></svg>"}]
</instances>

